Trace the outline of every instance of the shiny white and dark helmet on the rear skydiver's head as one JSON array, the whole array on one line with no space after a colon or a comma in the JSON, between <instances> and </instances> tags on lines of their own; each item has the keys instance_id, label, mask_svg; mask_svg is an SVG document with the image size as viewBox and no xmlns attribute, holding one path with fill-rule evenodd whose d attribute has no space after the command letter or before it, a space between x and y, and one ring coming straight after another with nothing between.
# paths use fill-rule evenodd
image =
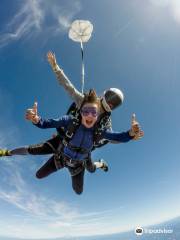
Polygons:
<instances>
[{"instance_id":1,"label":"shiny white and dark helmet on the rear skydiver's head","mask_svg":"<svg viewBox=\"0 0 180 240\"><path fill-rule=\"evenodd\" d=\"M110 88L104 91L101 99L102 105L107 112L111 112L123 103L124 95L118 88Z\"/></svg>"}]
</instances>

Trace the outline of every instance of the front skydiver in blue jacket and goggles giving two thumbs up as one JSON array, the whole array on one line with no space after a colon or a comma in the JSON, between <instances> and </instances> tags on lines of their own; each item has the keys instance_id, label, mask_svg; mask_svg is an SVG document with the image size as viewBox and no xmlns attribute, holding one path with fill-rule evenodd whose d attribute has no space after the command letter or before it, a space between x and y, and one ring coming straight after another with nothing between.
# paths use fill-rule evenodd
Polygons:
<instances>
[{"instance_id":1,"label":"front skydiver in blue jacket and goggles giving two thumbs up","mask_svg":"<svg viewBox=\"0 0 180 240\"><path fill-rule=\"evenodd\" d=\"M71 174L74 191L77 194L82 193L85 169L95 172L96 168L101 167L92 161L86 161L87 159L89 160L89 154L91 154L94 145L100 108L100 101L94 90L90 90L88 94L85 94L78 120L71 115L65 115L58 119L43 119L38 115L37 105L35 105L34 112L28 113L28 120L32 121L39 128L56 128L58 132L63 127L66 132L61 149L59 149L59 158L56 160L50 158L36 173L38 178L44 178L58 169L66 167ZM119 133L103 130L101 139L121 143L139 139L143 134L139 124L133 119L129 131ZM11 151L11 155L13 155L13 151L15 150Z\"/></svg>"}]
</instances>

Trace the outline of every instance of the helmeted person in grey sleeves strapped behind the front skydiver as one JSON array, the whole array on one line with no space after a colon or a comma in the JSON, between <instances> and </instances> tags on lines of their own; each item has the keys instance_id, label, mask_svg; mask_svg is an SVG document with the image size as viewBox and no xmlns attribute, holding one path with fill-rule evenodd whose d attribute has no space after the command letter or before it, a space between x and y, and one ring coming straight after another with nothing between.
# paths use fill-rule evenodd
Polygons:
<instances>
[{"instance_id":1,"label":"helmeted person in grey sleeves strapped behind the front skydiver","mask_svg":"<svg viewBox=\"0 0 180 240\"><path fill-rule=\"evenodd\" d=\"M68 92L68 94L72 97L75 104L72 104L70 109L68 110L68 114L73 115L74 117L79 116L79 108L81 107L84 95L80 93L74 85L70 82L70 80L66 77L63 70L60 69L56 62L55 55L52 52L48 52L47 59L55 72L58 82L65 88L65 90ZM107 140L99 140L98 135L100 135L102 130L105 129L111 129L111 111L118 106L120 106L123 102L124 96L123 93L116 88L111 88L109 90L106 90L104 92L104 95L100 97L100 114L98 118L98 124L97 126L97 134L96 139L94 141L93 149L96 147L101 147L104 144L108 143ZM34 109L28 109L26 117L28 118L29 112L33 112ZM60 130L59 130L60 132ZM0 149L0 156L9 156L11 154L15 155L26 155L26 154L32 154L32 155L44 155L44 154L55 154L58 152L58 147L62 142L64 136L63 129L61 129L61 133L57 134L57 136L47 140L46 142L33 144L27 147L27 150L21 151L21 148L17 151L11 151L11 153L8 150ZM24 148L23 148L24 149ZM56 158L56 156L54 156ZM90 156L89 156L90 157ZM91 159L90 159L91 160ZM102 169L107 170L107 164L102 161Z\"/></svg>"}]
</instances>

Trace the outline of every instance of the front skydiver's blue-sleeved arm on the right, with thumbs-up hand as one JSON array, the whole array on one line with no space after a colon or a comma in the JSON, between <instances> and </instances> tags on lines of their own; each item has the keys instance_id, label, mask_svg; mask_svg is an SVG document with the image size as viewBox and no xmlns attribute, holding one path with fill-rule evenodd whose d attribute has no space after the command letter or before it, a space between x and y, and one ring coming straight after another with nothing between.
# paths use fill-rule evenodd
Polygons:
<instances>
[{"instance_id":1,"label":"front skydiver's blue-sleeved arm on the right, with thumbs-up hand","mask_svg":"<svg viewBox=\"0 0 180 240\"><path fill-rule=\"evenodd\" d=\"M130 140L138 140L144 136L144 132L141 130L139 123L135 119L135 114L132 115L131 129L127 132L112 132L105 131L102 134L104 139L114 141L116 143L128 142Z\"/></svg>"}]
</instances>

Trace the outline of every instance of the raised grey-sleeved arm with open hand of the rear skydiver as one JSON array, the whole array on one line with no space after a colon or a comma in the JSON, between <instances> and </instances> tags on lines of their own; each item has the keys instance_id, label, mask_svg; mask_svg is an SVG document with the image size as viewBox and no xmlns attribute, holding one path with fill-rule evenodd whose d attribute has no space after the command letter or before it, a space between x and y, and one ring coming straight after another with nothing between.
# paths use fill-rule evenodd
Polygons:
<instances>
[{"instance_id":1,"label":"raised grey-sleeved arm with open hand of the rear skydiver","mask_svg":"<svg viewBox=\"0 0 180 240\"><path fill-rule=\"evenodd\" d=\"M64 87L69 96L73 99L73 101L75 101L78 108L80 108L84 99L84 95L75 88L75 86L71 83L68 77L64 74L63 70L58 66L55 54L53 54L52 52L48 52L47 60L51 65L59 84Z\"/></svg>"}]
</instances>

